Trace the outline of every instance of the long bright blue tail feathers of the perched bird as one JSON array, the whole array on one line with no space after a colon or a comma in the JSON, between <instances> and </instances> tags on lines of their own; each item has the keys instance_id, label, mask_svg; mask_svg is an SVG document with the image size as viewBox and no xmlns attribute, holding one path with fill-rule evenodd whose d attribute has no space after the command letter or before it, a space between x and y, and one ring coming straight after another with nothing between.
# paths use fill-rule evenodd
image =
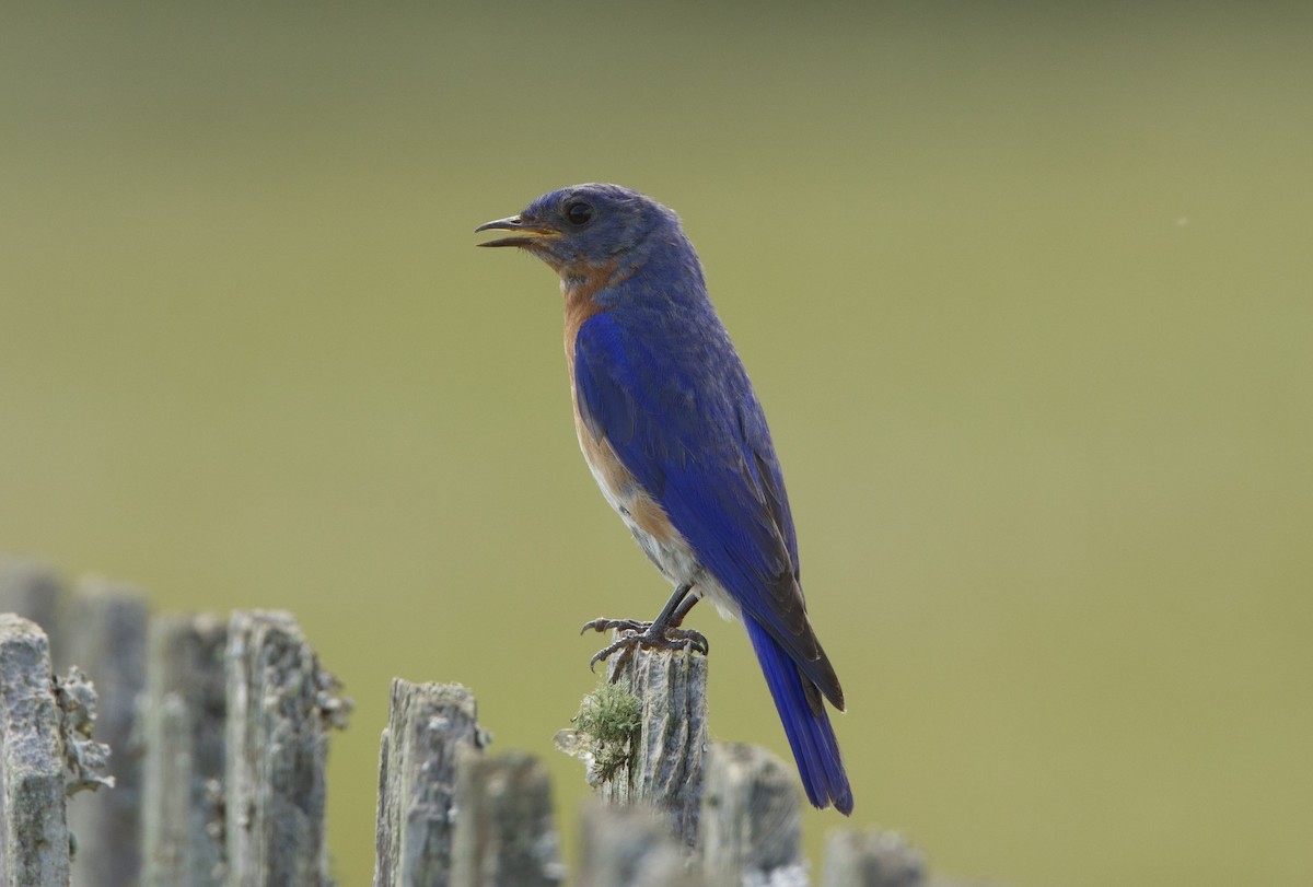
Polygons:
<instances>
[{"instance_id":1,"label":"long bright blue tail feathers of the perched bird","mask_svg":"<svg viewBox=\"0 0 1313 887\"><path fill-rule=\"evenodd\" d=\"M821 694L813 693L819 709L819 714L814 714L802 689L802 681L806 678L798 673L798 667L789 659L784 647L751 617L744 615L743 625L748 638L752 639L756 659L762 663L765 682L775 698L775 707L780 711L780 720L784 722L784 732L798 762L798 774L802 777L802 787L807 791L807 800L814 807L829 807L832 802L835 810L844 816L850 815L852 787L848 785L848 774L843 770L839 743L834 737L834 728L830 726L825 703L821 702Z\"/></svg>"}]
</instances>

